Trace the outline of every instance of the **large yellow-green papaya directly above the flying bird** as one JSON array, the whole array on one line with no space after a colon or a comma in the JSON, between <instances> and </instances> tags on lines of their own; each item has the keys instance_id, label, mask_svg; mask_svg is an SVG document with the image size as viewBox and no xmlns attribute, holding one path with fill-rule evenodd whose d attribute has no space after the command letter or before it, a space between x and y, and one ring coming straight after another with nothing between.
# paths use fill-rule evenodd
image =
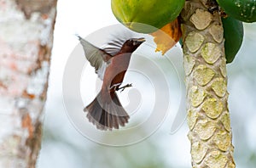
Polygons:
<instances>
[{"instance_id":1,"label":"large yellow-green papaya directly above the flying bird","mask_svg":"<svg viewBox=\"0 0 256 168\"><path fill-rule=\"evenodd\" d=\"M111 0L114 16L132 31L151 33L172 22L185 0Z\"/></svg>"}]
</instances>

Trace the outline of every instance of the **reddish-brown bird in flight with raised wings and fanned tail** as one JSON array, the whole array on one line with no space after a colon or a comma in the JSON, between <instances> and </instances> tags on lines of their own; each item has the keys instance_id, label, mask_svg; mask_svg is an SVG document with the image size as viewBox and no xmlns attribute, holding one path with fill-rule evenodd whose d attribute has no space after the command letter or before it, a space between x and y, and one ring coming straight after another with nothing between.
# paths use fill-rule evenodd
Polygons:
<instances>
[{"instance_id":1,"label":"reddish-brown bird in flight with raised wings and fanned tail","mask_svg":"<svg viewBox=\"0 0 256 168\"><path fill-rule=\"evenodd\" d=\"M102 79L102 90L96 98L84 108L87 118L100 130L119 129L129 120L116 91L131 87L127 84L120 87L128 69L131 54L143 43L144 38L130 38L108 43L106 48L96 48L79 36L86 59L95 67L96 74Z\"/></svg>"}]
</instances>

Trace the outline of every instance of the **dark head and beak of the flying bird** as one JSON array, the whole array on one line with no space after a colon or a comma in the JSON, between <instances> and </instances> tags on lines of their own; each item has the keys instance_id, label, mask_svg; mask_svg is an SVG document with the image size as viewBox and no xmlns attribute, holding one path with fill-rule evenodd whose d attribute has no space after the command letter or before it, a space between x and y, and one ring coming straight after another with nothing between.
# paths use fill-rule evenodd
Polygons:
<instances>
[{"instance_id":1,"label":"dark head and beak of the flying bird","mask_svg":"<svg viewBox=\"0 0 256 168\"><path fill-rule=\"evenodd\" d=\"M120 51L122 53L133 53L145 41L145 38L130 38L123 44Z\"/></svg>"}]
</instances>

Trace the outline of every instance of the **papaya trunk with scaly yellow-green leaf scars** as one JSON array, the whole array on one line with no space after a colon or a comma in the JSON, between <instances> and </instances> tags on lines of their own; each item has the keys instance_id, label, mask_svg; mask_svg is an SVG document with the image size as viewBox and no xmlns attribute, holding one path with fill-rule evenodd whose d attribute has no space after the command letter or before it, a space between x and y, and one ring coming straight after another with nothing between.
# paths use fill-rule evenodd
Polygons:
<instances>
[{"instance_id":1,"label":"papaya trunk with scaly yellow-green leaf scars","mask_svg":"<svg viewBox=\"0 0 256 168\"><path fill-rule=\"evenodd\" d=\"M221 17L211 0L186 1L181 14L193 167L236 167L228 109Z\"/></svg>"}]
</instances>

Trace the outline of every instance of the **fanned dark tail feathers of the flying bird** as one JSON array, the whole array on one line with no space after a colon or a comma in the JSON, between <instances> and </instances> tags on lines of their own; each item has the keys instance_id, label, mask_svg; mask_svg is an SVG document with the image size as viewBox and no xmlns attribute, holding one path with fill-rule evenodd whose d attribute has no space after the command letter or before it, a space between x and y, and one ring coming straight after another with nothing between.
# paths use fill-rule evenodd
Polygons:
<instances>
[{"instance_id":1,"label":"fanned dark tail feathers of the flying bird","mask_svg":"<svg viewBox=\"0 0 256 168\"><path fill-rule=\"evenodd\" d=\"M109 93L108 93L109 94ZM119 102L116 92L110 92L111 101L102 99L102 91L96 98L84 108L84 112L90 122L96 125L100 130L119 129L119 126L125 126L129 120L129 115Z\"/></svg>"}]
</instances>

